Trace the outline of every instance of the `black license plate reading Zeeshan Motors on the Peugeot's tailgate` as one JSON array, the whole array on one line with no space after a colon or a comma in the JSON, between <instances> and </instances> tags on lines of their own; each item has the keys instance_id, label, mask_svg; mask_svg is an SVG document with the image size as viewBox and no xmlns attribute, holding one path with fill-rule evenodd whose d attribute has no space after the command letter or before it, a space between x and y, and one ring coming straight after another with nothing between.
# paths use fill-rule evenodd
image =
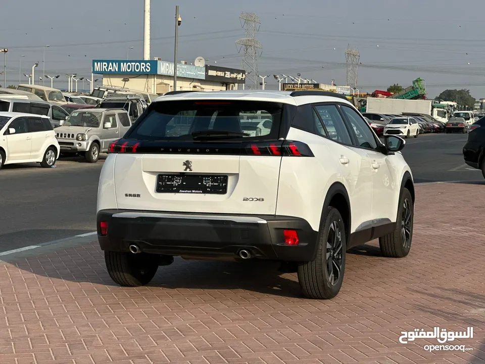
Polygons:
<instances>
[{"instance_id":1,"label":"black license plate reading Zeeshan Motors on the Peugeot's tailgate","mask_svg":"<svg viewBox=\"0 0 485 364\"><path fill-rule=\"evenodd\" d=\"M224 195L227 193L226 175L159 174L158 193L186 193Z\"/></svg>"}]
</instances>

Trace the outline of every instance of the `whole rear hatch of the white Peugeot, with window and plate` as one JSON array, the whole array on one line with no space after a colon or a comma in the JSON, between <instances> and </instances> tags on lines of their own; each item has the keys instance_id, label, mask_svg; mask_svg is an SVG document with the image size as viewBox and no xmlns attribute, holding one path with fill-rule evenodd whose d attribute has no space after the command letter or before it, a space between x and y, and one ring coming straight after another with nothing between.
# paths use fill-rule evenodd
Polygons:
<instances>
[{"instance_id":1,"label":"whole rear hatch of the white Peugeot, with window and plate","mask_svg":"<svg viewBox=\"0 0 485 364\"><path fill-rule=\"evenodd\" d=\"M284 110L240 100L152 103L110 146L118 208L275 214L281 158L301 154L298 143L278 140ZM263 119L271 128L258 128Z\"/></svg>"}]
</instances>

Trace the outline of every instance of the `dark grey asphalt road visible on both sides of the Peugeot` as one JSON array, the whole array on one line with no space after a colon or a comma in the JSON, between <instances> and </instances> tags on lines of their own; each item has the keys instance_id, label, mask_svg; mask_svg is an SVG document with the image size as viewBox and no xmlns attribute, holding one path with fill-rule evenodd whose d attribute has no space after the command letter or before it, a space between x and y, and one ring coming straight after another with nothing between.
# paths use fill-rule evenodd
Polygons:
<instances>
[{"instance_id":1,"label":"dark grey asphalt road visible on both sides of the Peugeot","mask_svg":"<svg viewBox=\"0 0 485 364\"><path fill-rule=\"evenodd\" d=\"M415 182L485 184L480 171L463 163L466 138L466 134L425 134L408 139L403 155ZM0 254L95 231L102 165L102 160L89 164L72 158L49 169L35 163L5 166L0 171Z\"/></svg>"}]
</instances>

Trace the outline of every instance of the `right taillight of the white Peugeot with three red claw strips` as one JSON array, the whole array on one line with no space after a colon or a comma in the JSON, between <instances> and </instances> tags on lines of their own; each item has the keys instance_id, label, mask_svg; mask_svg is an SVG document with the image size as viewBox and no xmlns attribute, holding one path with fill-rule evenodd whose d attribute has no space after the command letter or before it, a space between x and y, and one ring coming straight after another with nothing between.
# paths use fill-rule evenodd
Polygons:
<instances>
[{"instance_id":1,"label":"right taillight of the white Peugeot with three red claw strips","mask_svg":"<svg viewBox=\"0 0 485 364\"><path fill-rule=\"evenodd\" d=\"M246 154L283 157L314 157L308 145L295 141L256 142L248 144Z\"/></svg>"}]
</instances>

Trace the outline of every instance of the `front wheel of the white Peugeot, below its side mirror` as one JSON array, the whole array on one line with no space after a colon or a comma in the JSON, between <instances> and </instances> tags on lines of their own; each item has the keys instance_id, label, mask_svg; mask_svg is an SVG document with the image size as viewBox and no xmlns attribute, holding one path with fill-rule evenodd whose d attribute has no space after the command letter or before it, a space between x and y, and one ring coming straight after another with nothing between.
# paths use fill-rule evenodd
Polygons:
<instances>
[{"instance_id":1,"label":"front wheel of the white Peugeot, below its side mirror","mask_svg":"<svg viewBox=\"0 0 485 364\"><path fill-rule=\"evenodd\" d=\"M406 214L405 210L407 211ZM411 192L405 188L399 201L396 230L391 234L379 238L380 251L384 256L390 258L403 258L409 254L413 240L413 224L413 198ZM403 239L403 234L405 234L406 239Z\"/></svg>"}]
</instances>

